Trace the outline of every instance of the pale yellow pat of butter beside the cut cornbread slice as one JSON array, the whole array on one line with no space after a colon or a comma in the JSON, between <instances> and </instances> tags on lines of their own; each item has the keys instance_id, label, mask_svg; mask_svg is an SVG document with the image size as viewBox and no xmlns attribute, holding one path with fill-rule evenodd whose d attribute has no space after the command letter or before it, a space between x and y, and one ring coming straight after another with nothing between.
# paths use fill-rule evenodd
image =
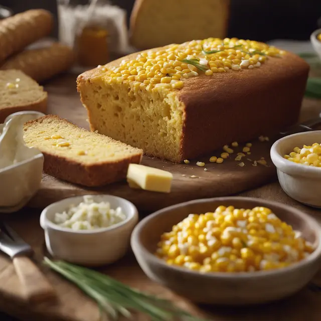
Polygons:
<instances>
[{"instance_id":1,"label":"pale yellow pat of butter beside the cut cornbread slice","mask_svg":"<svg viewBox=\"0 0 321 321\"><path fill-rule=\"evenodd\" d=\"M170 172L138 164L129 164L127 182L131 188L170 193L172 180L173 175Z\"/></svg>"}]
</instances>

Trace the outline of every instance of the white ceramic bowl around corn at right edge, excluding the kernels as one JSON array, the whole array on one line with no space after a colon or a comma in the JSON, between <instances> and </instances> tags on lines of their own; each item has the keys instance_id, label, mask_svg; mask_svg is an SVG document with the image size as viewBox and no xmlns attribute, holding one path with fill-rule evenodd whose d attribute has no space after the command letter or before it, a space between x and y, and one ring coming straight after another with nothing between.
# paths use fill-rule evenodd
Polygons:
<instances>
[{"instance_id":1,"label":"white ceramic bowl around corn at right edge, excluding the kernels","mask_svg":"<svg viewBox=\"0 0 321 321\"><path fill-rule=\"evenodd\" d=\"M305 205L321 208L321 168L288 161L283 156L294 147L321 142L321 130L285 136L271 147L271 159L283 191Z\"/></svg>"}]
</instances>

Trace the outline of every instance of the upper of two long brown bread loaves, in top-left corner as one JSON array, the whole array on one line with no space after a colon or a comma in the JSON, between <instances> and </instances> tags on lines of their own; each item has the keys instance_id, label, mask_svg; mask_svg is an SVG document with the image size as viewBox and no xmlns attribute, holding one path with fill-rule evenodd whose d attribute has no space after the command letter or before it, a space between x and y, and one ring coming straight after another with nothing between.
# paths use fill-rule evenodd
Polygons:
<instances>
[{"instance_id":1,"label":"upper of two long brown bread loaves, in top-left corner","mask_svg":"<svg viewBox=\"0 0 321 321\"><path fill-rule=\"evenodd\" d=\"M52 28L51 13L42 9L28 10L0 21L0 62L48 36Z\"/></svg>"}]
</instances>

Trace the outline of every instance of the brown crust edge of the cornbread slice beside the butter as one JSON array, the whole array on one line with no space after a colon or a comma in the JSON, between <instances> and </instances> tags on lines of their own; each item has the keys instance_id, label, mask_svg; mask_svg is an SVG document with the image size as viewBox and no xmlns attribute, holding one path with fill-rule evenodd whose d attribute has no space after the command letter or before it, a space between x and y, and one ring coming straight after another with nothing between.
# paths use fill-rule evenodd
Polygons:
<instances>
[{"instance_id":1,"label":"brown crust edge of the cornbread slice beside the butter","mask_svg":"<svg viewBox=\"0 0 321 321\"><path fill-rule=\"evenodd\" d=\"M57 115L46 115L44 117L31 120L24 125L25 130L35 122L41 122L45 119L56 119L60 122L72 124L67 119L62 119ZM74 124L73 124L74 125ZM74 125L77 130L87 131ZM97 135L100 135L97 133ZM114 141L114 140L113 140ZM40 149L40 151L42 151ZM44 172L57 177L61 180L75 183L87 187L99 187L114 183L126 178L127 169L130 163L139 164L142 157L142 150L137 148L137 153L130 157L124 157L118 161L102 161L96 164L82 164L68 157L58 156L54 153L43 152L44 154Z\"/></svg>"}]
</instances>

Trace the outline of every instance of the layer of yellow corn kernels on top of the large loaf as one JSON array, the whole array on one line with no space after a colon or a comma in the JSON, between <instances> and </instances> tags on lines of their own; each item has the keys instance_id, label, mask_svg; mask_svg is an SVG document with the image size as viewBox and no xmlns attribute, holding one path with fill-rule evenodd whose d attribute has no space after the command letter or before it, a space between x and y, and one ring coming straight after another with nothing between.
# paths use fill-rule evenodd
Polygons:
<instances>
[{"instance_id":1,"label":"layer of yellow corn kernels on top of the large loaf","mask_svg":"<svg viewBox=\"0 0 321 321\"><path fill-rule=\"evenodd\" d=\"M106 82L125 82L133 91L179 90L188 78L259 68L266 59L284 53L256 41L208 38L141 52L118 66L99 69L105 72ZM146 80L148 84L142 85Z\"/></svg>"}]
</instances>

